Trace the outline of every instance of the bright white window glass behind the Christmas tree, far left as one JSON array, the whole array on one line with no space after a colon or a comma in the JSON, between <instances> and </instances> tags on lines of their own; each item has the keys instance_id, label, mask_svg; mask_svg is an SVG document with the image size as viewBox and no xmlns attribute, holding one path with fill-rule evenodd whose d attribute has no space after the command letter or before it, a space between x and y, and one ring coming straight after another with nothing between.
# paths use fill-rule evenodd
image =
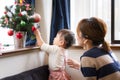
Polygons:
<instances>
[{"instance_id":1,"label":"bright white window glass behind the Christmas tree, far left","mask_svg":"<svg viewBox=\"0 0 120 80\"><path fill-rule=\"evenodd\" d=\"M4 15L4 11L5 11L5 6L10 6L12 4L14 4L14 0L0 0L0 17L2 17L2 15ZM8 29L6 28L2 28L0 27L0 44L4 45L4 44L13 44L14 40L12 36L8 36L7 34Z\"/></svg>"}]
</instances>

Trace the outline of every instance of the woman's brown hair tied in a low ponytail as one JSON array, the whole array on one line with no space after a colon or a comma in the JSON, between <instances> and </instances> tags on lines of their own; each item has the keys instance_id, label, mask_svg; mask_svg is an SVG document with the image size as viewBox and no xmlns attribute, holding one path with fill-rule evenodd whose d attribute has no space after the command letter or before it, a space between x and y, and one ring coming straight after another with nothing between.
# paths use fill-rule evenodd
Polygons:
<instances>
[{"instance_id":1,"label":"woman's brown hair tied in a low ponytail","mask_svg":"<svg viewBox=\"0 0 120 80\"><path fill-rule=\"evenodd\" d=\"M91 40L94 46L102 44L105 51L109 52L111 50L104 39L107 26L103 20L95 17L83 19L78 24L77 35L79 35L79 32L82 33L82 37Z\"/></svg>"}]
</instances>

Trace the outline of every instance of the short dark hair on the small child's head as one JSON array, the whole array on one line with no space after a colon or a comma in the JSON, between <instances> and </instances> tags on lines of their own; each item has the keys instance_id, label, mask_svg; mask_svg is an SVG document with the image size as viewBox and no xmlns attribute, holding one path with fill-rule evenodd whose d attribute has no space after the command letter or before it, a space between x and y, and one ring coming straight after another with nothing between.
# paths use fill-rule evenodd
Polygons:
<instances>
[{"instance_id":1,"label":"short dark hair on the small child's head","mask_svg":"<svg viewBox=\"0 0 120 80\"><path fill-rule=\"evenodd\" d=\"M61 29L58 34L61 35L61 37L65 40L65 48L69 48L75 43L75 35L72 31L68 29Z\"/></svg>"}]
</instances>

